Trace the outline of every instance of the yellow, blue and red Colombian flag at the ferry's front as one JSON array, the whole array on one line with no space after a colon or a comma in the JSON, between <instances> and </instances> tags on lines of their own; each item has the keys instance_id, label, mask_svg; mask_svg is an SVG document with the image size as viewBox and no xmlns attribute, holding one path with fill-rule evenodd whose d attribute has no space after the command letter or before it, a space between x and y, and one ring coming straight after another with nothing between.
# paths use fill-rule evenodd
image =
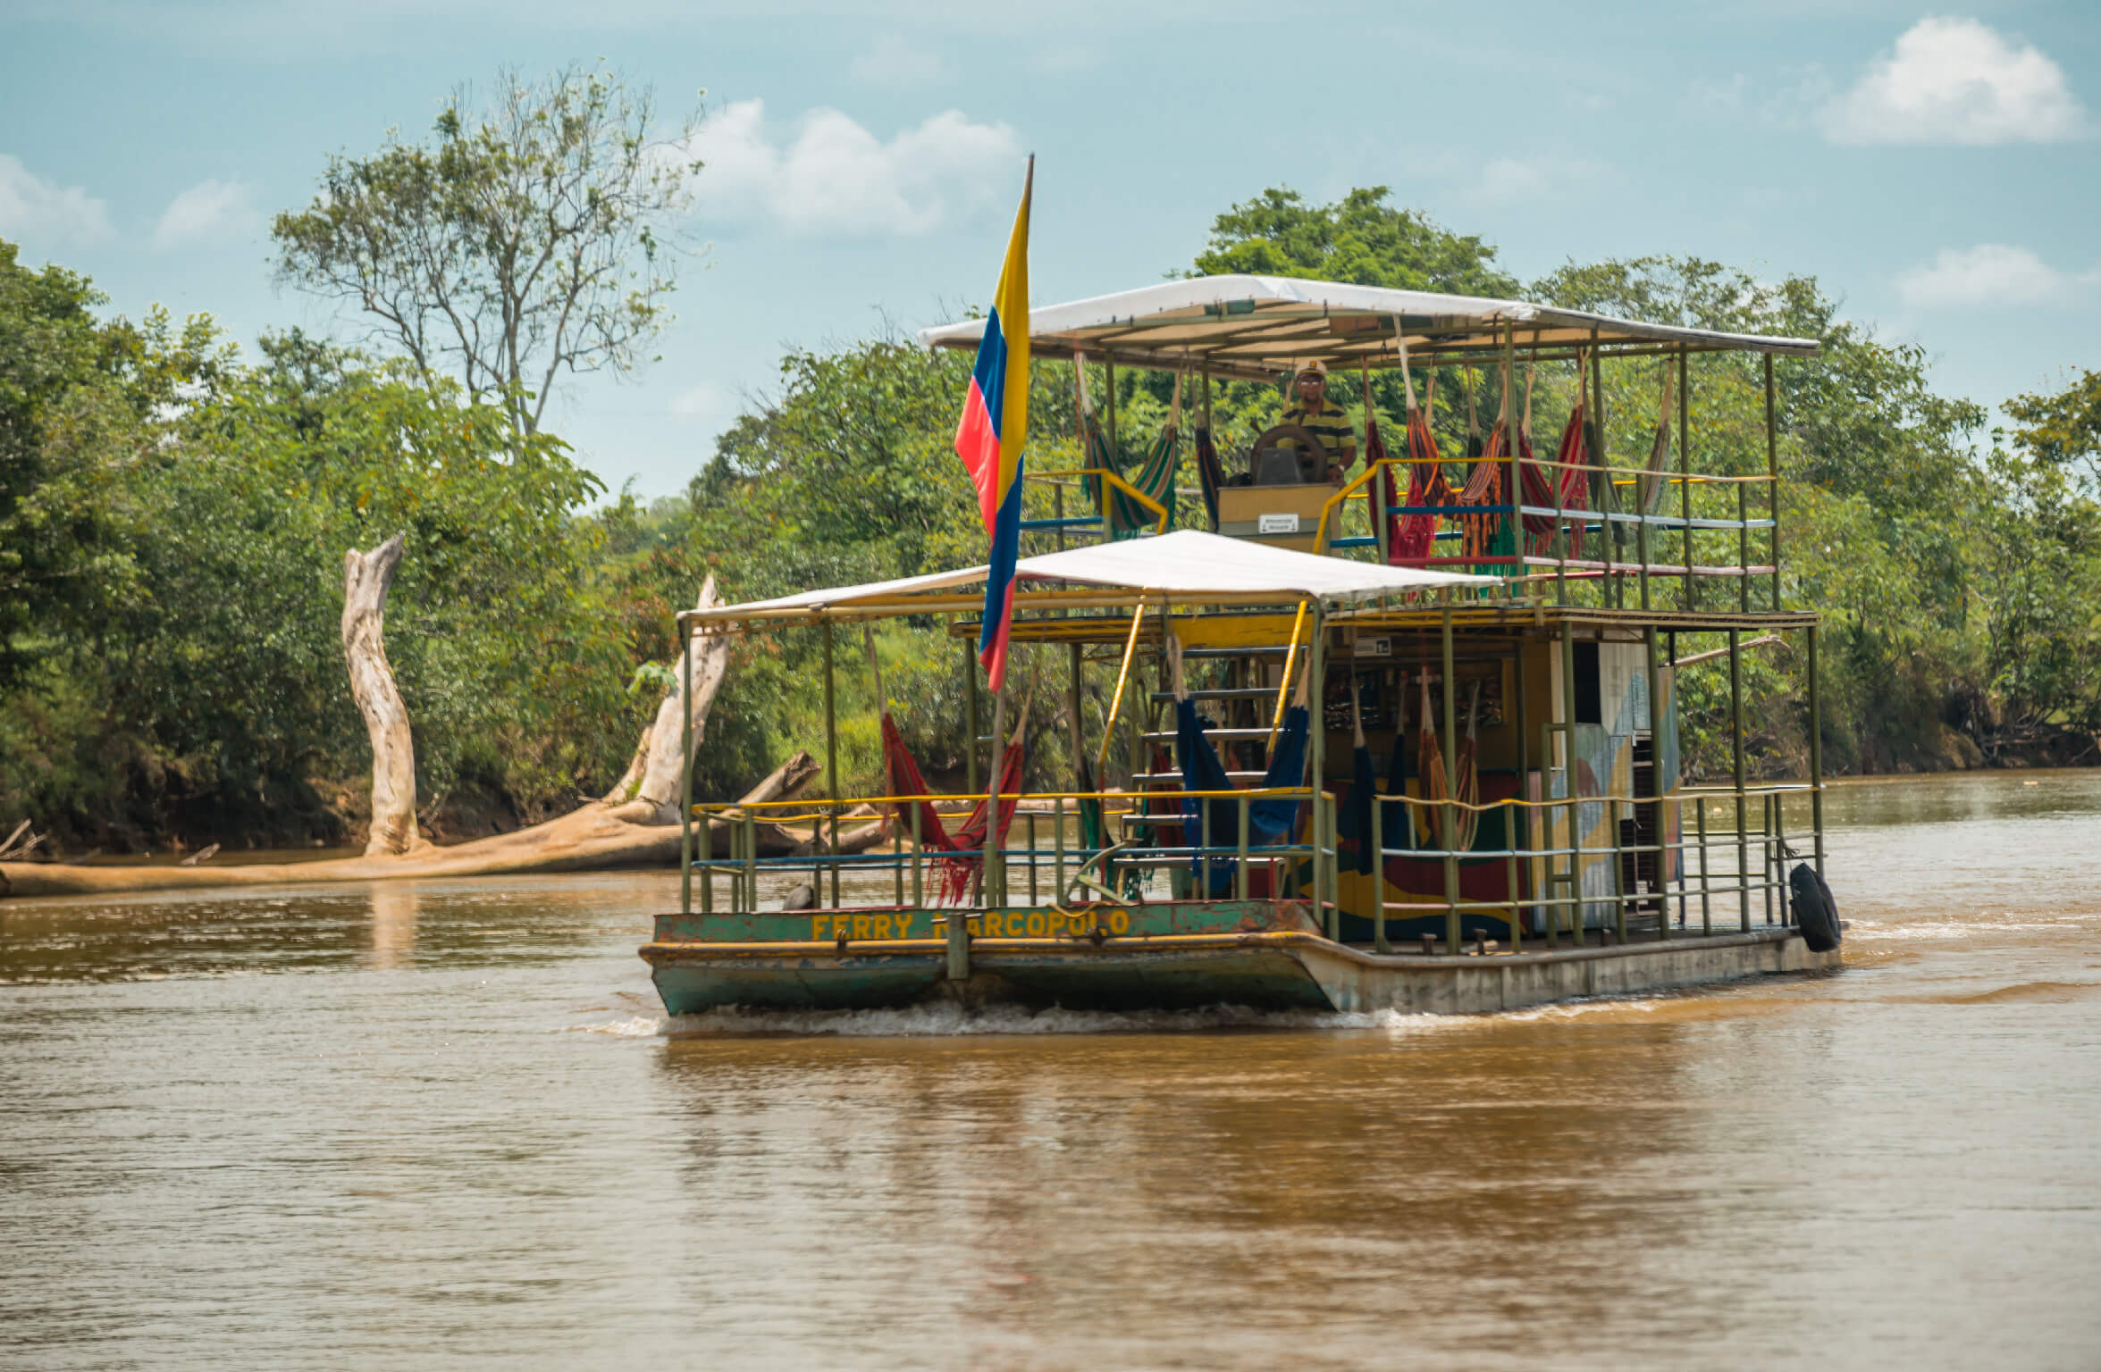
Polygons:
<instances>
[{"instance_id":1,"label":"yellow, blue and red Colombian flag at the ferry's front","mask_svg":"<svg viewBox=\"0 0 2101 1372\"><path fill-rule=\"evenodd\" d=\"M1029 191L1036 158L1021 183L1021 208L1006 240L992 315L977 342L971 395L956 422L956 456L977 485L977 508L992 538L983 630L977 660L994 691L1006 681L1006 630L1015 622L1015 559L1021 555L1021 443L1029 433Z\"/></svg>"}]
</instances>

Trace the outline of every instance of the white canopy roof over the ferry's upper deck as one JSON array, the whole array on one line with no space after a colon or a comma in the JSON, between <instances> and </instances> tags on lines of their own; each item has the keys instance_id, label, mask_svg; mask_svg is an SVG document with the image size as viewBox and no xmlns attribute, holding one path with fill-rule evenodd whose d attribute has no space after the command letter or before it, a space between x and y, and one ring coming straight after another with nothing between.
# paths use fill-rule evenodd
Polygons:
<instances>
[{"instance_id":1,"label":"white canopy roof over the ferry's upper deck","mask_svg":"<svg viewBox=\"0 0 2101 1372\"><path fill-rule=\"evenodd\" d=\"M1330 368L1488 361L1504 330L1525 357L1569 357L1593 342L1603 353L1756 351L1813 357L1815 338L1765 338L1704 328L1641 324L1525 300L1445 296L1429 290L1345 286L1298 277L1219 275L1141 286L1114 296L1029 307L1032 349L1042 357L1114 353L1141 368L1208 366L1221 376L1271 380L1305 359ZM983 319L920 330L920 345L975 349Z\"/></svg>"}]
</instances>

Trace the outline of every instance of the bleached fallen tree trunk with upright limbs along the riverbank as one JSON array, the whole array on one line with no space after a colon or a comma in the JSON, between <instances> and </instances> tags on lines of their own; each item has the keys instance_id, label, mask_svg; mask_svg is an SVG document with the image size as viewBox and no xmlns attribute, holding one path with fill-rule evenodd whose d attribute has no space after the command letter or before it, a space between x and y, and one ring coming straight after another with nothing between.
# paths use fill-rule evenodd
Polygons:
<instances>
[{"instance_id":1,"label":"bleached fallen tree trunk with upright limbs along the riverbank","mask_svg":"<svg viewBox=\"0 0 2101 1372\"><path fill-rule=\"evenodd\" d=\"M387 767L393 767L393 716L389 714L389 708L399 708L401 704L399 691L393 689L393 672L387 670L384 651L378 647L376 607L378 601L384 599L384 582L393 571L393 565L384 563L389 548L395 550L393 561L399 561L399 540L387 540L387 544L380 544L380 548L374 548L372 553L351 553L345 559L349 580L355 582L363 574L368 578L376 578L378 582L376 595L370 597L372 618L368 620L363 618L366 611L359 611L359 622L355 626L359 647L355 653L351 649L353 622L349 595L345 597L342 628L345 656L351 658L353 691L359 695L359 708L366 706L368 689L372 691L372 700L378 702L376 712L366 712L368 727L374 729L374 830L363 857L212 868L88 868L74 864L0 861L0 897L116 895L124 891L279 887L340 880L414 880L422 876L517 876L529 872L674 866L679 861L679 788L681 773L687 763L679 748L679 712L687 712L687 719L691 721L693 746L700 748L706 737L708 708L714 704L714 695L723 685L725 672L729 670L729 645L723 639L712 637L695 639L689 645L691 658L687 668L693 683L691 698L685 693L685 674L679 674L666 689L656 719L643 731L635 763L628 767L630 779L624 779L622 786L607 792L603 801L592 801L584 809L561 815L559 819L548 819L546 824L536 824L511 834L477 838L473 843L445 849L433 847L416 836L414 758L405 752L408 712L405 708L399 710L399 742L403 748L399 756L410 767L410 773L405 786L399 786L397 773L389 773L389 819L382 843L382 826L378 819L382 790L378 756L382 740L380 727L372 721L378 716L387 727ZM353 559L359 561L359 567L351 565ZM370 582L363 588L370 590ZM710 576L706 586L702 586L700 607L706 609L712 603L714 578ZM370 639L366 639L368 632ZM384 689L378 689L376 677L368 677L366 685L357 685L359 670L384 672ZM393 706L387 704L387 695L391 695ZM782 763L773 775L754 786L740 801L740 805L792 798L798 790L809 786L817 771L819 767L815 758L807 752L798 752ZM408 801L405 822L401 819L399 798ZM716 853L729 851L731 822L742 822L742 815L719 815L712 822ZM807 851L809 840L779 824L758 819L754 830L758 834L758 853L763 857L784 857L796 851ZM389 845L399 843L403 834L414 847L408 851L391 849ZM855 830L853 838L864 840L864 834L866 830ZM849 836L840 834L840 847L845 847L845 838Z\"/></svg>"}]
</instances>

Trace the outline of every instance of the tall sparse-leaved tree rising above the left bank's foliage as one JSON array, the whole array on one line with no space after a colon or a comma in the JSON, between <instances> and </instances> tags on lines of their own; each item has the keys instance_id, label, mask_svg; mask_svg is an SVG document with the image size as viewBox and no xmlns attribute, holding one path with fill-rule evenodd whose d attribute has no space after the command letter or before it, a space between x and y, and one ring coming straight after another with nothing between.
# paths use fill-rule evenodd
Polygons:
<instances>
[{"instance_id":1,"label":"tall sparse-leaved tree rising above the left bank's foliage","mask_svg":"<svg viewBox=\"0 0 2101 1372\"><path fill-rule=\"evenodd\" d=\"M628 372L664 328L677 219L700 162L689 118L656 128L651 90L603 69L498 76L473 113L454 90L435 141L330 158L313 204L271 223L277 275L355 303L435 384L540 429L561 372Z\"/></svg>"}]
</instances>

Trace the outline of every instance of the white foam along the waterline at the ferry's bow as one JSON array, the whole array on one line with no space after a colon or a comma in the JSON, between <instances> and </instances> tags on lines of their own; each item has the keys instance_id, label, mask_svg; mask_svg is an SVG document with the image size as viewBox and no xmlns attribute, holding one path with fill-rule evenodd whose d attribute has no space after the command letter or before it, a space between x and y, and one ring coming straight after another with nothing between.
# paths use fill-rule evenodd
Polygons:
<instances>
[{"instance_id":1,"label":"white foam along the waterline at the ferry's bow","mask_svg":"<svg viewBox=\"0 0 2101 1372\"><path fill-rule=\"evenodd\" d=\"M748 1011L721 1009L674 1015L658 1021L668 1038L708 1036L834 1036L834 1038L969 1038L1011 1034L1206 1034L1219 1030L1378 1030L1422 1032L1458 1023L1452 1015L1403 1015L1399 1011L1254 1011L1219 1004L1200 1011L1029 1011L985 1006L964 1011L954 1004L916 1004L882 1011Z\"/></svg>"}]
</instances>

